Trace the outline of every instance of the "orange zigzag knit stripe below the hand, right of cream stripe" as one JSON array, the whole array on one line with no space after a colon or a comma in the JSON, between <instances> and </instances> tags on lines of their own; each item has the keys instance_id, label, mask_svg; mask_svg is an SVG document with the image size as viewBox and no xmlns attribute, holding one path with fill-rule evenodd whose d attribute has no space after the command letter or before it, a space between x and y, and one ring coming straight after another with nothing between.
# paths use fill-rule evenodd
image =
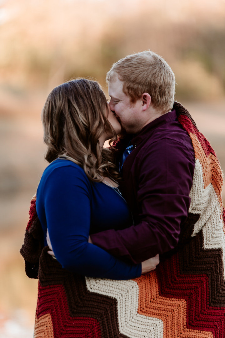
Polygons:
<instances>
[{"instance_id":1,"label":"orange zigzag knit stripe below the hand, right of cream stripe","mask_svg":"<svg viewBox=\"0 0 225 338\"><path fill-rule=\"evenodd\" d=\"M186 300L166 298L159 295L155 271L135 279L139 287L138 313L163 321L163 338L213 338L209 331L186 328Z\"/></svg>"}]
</instances>

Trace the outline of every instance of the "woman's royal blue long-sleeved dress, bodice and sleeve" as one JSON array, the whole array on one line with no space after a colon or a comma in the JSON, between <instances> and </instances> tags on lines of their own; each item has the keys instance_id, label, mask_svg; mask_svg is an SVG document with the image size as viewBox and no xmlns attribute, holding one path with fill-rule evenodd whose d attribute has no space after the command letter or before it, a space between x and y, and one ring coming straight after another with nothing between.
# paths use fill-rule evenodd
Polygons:
<instances>
[{"instance_id":1,"label":"woman's royal blue long-sleeved dress, bodice and sleeve","mask_svg":"<svg viewBox=\"0 0 225 338\"><path fill-rule=\"evenodd\" d=\"M141 264L124 262L88 243L89 234L129 226L131 214L115 189L91 182L74 162L57 159L45 169L37 189L36 209L45 245L48 228L62 267L85 276L118 280L141 275Z\"/></svg>"}]
</instances>

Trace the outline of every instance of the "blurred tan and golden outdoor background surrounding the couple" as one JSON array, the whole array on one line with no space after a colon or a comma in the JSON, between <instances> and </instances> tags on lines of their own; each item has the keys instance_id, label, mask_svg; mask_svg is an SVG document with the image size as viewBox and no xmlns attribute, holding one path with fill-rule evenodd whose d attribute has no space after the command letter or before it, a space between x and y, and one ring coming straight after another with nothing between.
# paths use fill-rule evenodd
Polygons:
<instances>
[{"instance_id":1,"label":"blurred tan and golden outdoor background surrounding the couple","mask_svg":"<svg viewBox=\"0 0 225 338\"><path fill-rule=\"evenodd\" d=\"M0 0L0 337L32 337L37 281L19 254L45 145L48 93L97 79L125 55L151 49L176 76L186 106L225 170L224 0ZM224 191L223 191L224 197Z\"/></svg>"}]
</instances>

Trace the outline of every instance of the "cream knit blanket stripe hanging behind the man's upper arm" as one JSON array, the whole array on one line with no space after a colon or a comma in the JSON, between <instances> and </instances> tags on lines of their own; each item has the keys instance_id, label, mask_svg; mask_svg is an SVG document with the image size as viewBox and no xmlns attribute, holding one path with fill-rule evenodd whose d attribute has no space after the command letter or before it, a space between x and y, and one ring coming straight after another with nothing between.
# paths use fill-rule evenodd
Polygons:
<instances>
[{"instance_id":1,"label":"cream knit blanket stripe hanging behind the man's upper arm","mask_svg":"<svg viewBox=\"0 0 225 338\"><path fill-rule=\"evenodd\" d=\"M210 183L204 188L202 166L198 159L195 161L193 185L189 196L191 197L189 212L201 215L195 223L192 237L202 229L204 249L222 249L225 280L225 235L221 207L213 185Z\"/></svg>"}]
</instances>

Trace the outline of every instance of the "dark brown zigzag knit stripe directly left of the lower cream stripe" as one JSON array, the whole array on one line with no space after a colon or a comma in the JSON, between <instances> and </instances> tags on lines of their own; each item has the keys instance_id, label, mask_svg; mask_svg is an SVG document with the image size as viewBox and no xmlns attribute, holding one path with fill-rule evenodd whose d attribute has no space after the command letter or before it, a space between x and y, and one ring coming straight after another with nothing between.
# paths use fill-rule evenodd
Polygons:
<instances>
[{"instance_id":1,"label":"dark brown zigzag knit stripe directly left of the lower cream stripe","mask_svg":"<svg viewBox=\"0 0 225 338\"><path fill-rule=\"evenodd\" d=\"M70 273L51 258L46 247L39 262L39 283L41 286L62 285L67 298L71 317L91 317L97 319L102 337L127 338L119 332L117 301L114 298L91 293L86 288L85 277ZM40 294L39 297L42 297ZM100 306L101 304L101 306ZM41 315L40 308L37 308Z\"/></svg>"}]
</instances>

